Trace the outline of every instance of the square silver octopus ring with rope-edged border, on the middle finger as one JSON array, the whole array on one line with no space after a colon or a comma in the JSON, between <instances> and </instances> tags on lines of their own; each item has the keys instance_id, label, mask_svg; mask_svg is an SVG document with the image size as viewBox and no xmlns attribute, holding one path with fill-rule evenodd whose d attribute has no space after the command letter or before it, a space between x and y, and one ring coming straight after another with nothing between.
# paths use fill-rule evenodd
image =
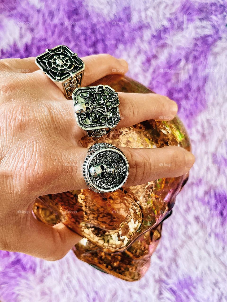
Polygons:
<instances>
[{"instance_id":1,"label":"square silver octopus ring with rope-edged border, on the middle finger","mask_svg":"<svg viewBox=\"0 0 227 302\"><path fill-rule=\"evenodd\" d=\"M77 88L73 92L77 124L90 137L101 137L120 121L117 92L108 85Z\"/></svg>"}]
</instances>

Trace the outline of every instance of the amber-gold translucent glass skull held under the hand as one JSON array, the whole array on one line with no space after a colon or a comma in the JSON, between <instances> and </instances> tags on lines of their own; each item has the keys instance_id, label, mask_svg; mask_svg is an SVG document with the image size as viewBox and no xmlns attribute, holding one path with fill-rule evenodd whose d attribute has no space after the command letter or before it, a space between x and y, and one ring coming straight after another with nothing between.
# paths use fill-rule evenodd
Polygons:
<instances>
[{"instance_id":1,"label":"amber-gold translucent glass skull held under the hand","mask_svg":"<svg viewBox=\"0 0 227 302\"><path fill-rule=\"evenodd\" d=\"M100 83L117 92L151 93L126 76L106 76L92 86ZM84 147L97 142L132 148L175 145L190 150L186 130L177 117L115 129L98 139L81 139ZM103 172L111 173L111 167L93 167L94 175ZM116 277L135 281L148 269L161 237L162 222L172 214L176 195L187 178L188 174L161 178L105 194L85 189L45 195L37 199L33 211L42 222L53 225L61 221L83 237L73 249L79 259Z\"/></svg>"}]
</instances>

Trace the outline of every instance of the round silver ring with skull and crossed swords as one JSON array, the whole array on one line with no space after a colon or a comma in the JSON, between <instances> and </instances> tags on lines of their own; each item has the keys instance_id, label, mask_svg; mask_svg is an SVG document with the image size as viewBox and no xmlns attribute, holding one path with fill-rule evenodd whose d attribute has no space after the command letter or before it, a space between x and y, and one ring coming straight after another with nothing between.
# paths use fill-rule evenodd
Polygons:
<instances>
[{"instance_id":1,"label":"round silver ring with skull and crossed swords","mask_svg":"<svg viewBox=\"0 0 227 302\"><path fill-rule=\"evenodd\" d=\"M129 164L123 152L107 143L91 146L84 160L83 175L86 185L97 193L118 190L129 174Z\"/></svg>"}]
</instances>

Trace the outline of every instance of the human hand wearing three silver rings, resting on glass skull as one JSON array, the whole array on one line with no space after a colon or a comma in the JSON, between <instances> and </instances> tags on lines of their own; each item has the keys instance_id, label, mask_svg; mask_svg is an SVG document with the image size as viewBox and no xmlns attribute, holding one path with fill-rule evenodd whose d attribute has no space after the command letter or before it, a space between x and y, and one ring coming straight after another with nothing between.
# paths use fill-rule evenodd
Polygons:
<instances>
[{"instance_id":1,"label":"human hand wearing three silver rings, resting on glass skull","mask_svg":"<svg viewBox=\"0 0 227 302\"><path fill-rule=\"evenodd\" d=\"M127 72L124 60L109 55L82 60L83 86ZM81 237L62 223L39 222L31 210L41 195L86 188L81 167L87 149L79 143L84 132L77 126L73 101L38 69L35 58L0 60L0 70L0 249L61 259ZM118 94L124 117L118 128L170 120L177 112L176 103L161 95ZM130 165L127 186L183 175L194 162L190 152L176 146L120 149Z\"/></svg>"}]
</instances>

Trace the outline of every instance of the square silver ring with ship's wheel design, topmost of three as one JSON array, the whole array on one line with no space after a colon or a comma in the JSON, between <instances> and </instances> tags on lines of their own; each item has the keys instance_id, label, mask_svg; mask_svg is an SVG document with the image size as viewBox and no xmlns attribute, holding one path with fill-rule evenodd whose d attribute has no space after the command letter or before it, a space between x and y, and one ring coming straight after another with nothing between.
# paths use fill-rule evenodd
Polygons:
<instances>
[{"instance_id":1,"label":"square silver ring with ship's wheel design, topmost of three","mask_svg":"<svg viewBox=\"0 0 227 302\"><path fill-rule=\"evenodd\" d=\"M36 57L35 63L61 88L66 98L72 95L74 89L81 87L84 62L67 46L46 49L45 53Z\"/></svg>"}]
</instances>

